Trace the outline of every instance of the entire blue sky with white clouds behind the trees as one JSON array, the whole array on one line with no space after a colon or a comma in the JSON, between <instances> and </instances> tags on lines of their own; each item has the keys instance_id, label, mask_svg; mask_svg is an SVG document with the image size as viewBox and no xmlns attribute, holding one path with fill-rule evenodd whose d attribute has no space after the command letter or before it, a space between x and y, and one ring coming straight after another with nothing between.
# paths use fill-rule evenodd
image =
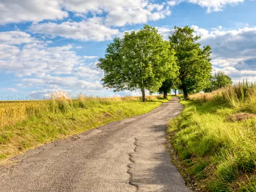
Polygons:
<instances>
[{"instance_id":1,"label":"entire blue sky with white clouds behind the trees","mask_svg":"<svg viewBox=\"0 0 256 192\"><path fill-rule=\"evenodd\" d=\"M96 67L108 44L144 24L167 39L189 26L212 48L212 73L256 81L255 0L0 0L0 99L114 93Z\"/></svg>"}]
</instances>

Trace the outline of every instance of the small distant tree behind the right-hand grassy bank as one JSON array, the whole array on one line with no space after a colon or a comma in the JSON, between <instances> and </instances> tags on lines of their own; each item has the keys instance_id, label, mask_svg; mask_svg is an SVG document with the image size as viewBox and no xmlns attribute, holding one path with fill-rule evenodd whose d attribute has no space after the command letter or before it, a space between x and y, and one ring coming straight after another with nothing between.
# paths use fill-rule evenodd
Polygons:
<instances>
[{"instance_id":1,"label":"small distant tree behind the right-hand grassy bank","mask_svg":"<svg viewBox=\"0 0 256 192\"><path fill-rule=\"evenodd\" d=\"M220 88L226 87L229 84L232 84L231 77L225 75L224 72L219 71L218 73L215 73L214 76L211 76L209 86L204 90L204 92L215 91Z\"/></svg>"}]
</instances>

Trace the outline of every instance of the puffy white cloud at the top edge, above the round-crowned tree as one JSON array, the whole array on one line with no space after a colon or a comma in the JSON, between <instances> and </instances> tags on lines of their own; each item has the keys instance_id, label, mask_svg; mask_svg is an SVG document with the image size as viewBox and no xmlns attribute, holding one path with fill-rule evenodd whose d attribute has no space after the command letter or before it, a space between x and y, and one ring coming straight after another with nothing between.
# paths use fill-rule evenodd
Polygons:
<instances>
[{"instance_id":1,"label":"puffy white cloud at the top edge, above the round-crowned tree","mask_svg":"<svg viewBox=\"0 0 256 192\"><path fill-rule=\"evenodd\" d=\"M65 9L94 15L106 14L105 24L108 26L124 26L126 24L146 23L148 20L157 20L170 14L169 7L163 4L154 4L145 0L64 0ZM165 7L165 8L164 8Z\"/></svg>"}]
</instances>

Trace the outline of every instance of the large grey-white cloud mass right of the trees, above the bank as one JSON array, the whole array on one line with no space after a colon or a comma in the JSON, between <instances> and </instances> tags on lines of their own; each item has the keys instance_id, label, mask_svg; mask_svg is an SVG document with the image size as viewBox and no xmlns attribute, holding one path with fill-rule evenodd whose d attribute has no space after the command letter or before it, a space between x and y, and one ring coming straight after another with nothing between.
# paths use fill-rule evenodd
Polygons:
<instances>
[{"instance_id":1,"label":"large grey-white cloud mass right of the trees, above the bank","mask_svg":"<svg viewBox=\"0 0 256 192\"><path fill-rule=\"evenodd\" d=\"M197 26L194 29L203 35L202 45L211 46L215 70L224 71L233 80L256 80L256 27L210 32Z\"/></svg>"}]
</instances>

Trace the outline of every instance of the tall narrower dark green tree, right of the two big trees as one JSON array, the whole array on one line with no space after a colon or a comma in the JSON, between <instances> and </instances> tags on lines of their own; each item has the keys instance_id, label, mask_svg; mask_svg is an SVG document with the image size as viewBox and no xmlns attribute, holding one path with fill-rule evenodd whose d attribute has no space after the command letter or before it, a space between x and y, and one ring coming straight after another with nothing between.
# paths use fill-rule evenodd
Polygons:
<instances>
[{"instance_id":1,"label":"tall narrower dark green tree, right of the two big trees","mask_svg":"<svg viewBox=\"0 0 256 192\"><path fill-rule=\"evenodd\" d=\"M200 48L200 36L193 34L194 30L188 26L174 27L169 36L171 48L176 52L179 69L179 89L184 98L188 94L200 92L207 87L211 76L210 46Z\"/></svg>"}]
</instances>

